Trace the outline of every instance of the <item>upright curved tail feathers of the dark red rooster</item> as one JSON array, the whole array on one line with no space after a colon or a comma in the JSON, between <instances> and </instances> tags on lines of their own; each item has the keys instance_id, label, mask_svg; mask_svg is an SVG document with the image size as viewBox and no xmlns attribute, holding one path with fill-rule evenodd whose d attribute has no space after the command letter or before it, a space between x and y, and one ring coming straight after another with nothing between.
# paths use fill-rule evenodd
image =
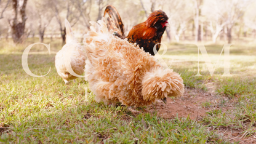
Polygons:
<instances>
[{"instance_id":1,"label":"upright curved tail feathers of the dark red rooster","mask_svg":"<svg viewBox=\"0 0 256 144\"><path fill-rule=\"evenodd\" d=\"M109 17L106 17L106 14L108 14ZM118 10L116 10L114 6L106 6L103 17L106 18L106 25L108 26L109 31L115 31L115 35L119 38L126 38L126 36L124 36L124 25L122 24L122 19Z\"/></svg>"}]
</instances>

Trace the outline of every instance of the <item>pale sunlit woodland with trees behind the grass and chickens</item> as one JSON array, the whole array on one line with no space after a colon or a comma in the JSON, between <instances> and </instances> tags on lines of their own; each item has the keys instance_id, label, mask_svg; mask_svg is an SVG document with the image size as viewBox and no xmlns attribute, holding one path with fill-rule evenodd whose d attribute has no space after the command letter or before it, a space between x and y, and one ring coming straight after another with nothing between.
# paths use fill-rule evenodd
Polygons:
<instances>
[{"instance_id":1,"label":"pale sunlit woodland with trees behind the grass and chickens","mask_svg":"<svg viewBox=\"0 0 256 144\"><path fill-rule=\"evenodd\" d=\"M14 2L17 6L14 6ZM121 15L126 35L132 26L144 22L154 10L162 9L170 26L164 33L168 42L249 42L256 36L256 2L253 0L28 0L25 14L23 0L0 1L0 38L24 42L26 38L65 40L65 18L76 37L89 30L90 21L103 17L105 7L113 5ZM16 13L15 13L16 12ZM15 15L17 17L15 17ZM23 19L23 21L22 21ZM16 23L16 24L14 24ZM18 23L25 28L15 28ZM14 33L20 31L20 36Z\"/></svg>"}]
</instances>

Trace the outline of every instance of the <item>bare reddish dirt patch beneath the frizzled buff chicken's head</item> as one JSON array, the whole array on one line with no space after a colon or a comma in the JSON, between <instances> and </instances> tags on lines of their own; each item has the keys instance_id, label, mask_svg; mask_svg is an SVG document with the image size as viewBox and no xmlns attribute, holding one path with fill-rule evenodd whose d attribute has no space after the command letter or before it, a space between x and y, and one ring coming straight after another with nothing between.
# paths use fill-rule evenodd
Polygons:
<instances>
[{"instance_id":1,"label":"bare reddish dirt patch beneath the frizzled buff chicken's head","mask_svg":"<svg viewBox=\"0 0 256 144\"><path fill-rule=\"evenodd\" d=\"M190 115L190 118L200 119L206 115L206 108L204 103L210 103L216 101L218 98L211 93L204 92L199 89L185 89L183 97L179 98L167 98L165 104L161 100L148 106L145 112L157 113L162 118L186 118Z\"/></svg>"}]
</instances>

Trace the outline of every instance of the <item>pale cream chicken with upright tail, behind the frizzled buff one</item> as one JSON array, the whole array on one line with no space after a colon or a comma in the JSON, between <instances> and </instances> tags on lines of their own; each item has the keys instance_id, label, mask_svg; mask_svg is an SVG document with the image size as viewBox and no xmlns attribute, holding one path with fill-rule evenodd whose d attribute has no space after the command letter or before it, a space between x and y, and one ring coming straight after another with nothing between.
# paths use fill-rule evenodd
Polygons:
<instances>
[{"instance_id":1,"label":"pale cream chicken with upright tail, behind the frizzled buff one","mask_svg":"<svg viewBox=\"0 0 256 144\"><path fill-rule=\"evenodd\" d=\"M66 44L57 52L55 56L55 67L58 75L63 79L65 84L71 79L76 79L84 73L86 65L86 54L82 46L71 30L70 23L65 20L66 27Z\"/></svg>"}]
</instances>

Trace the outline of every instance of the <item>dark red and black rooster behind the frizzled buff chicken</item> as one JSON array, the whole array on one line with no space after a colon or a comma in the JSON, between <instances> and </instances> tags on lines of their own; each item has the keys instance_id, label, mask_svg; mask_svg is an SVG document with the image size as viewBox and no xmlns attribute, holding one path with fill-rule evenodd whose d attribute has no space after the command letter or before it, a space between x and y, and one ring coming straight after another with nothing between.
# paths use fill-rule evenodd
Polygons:
<instances>
[{"instance_id":1,"label":"dark red and black rooster behind the frizzled buff chicken","mask_svg":"<svg viewBox=\"0 0 256 144\"><path fill-rule=\"evenodd\" d=\"M113 6L107 6L104 16L106 13L112 18L112 21L108 21L108 23L115 23L114 25L116 28L119 27L118 31L115 33L116 36L123 38L123 24L117 10ZM129 31L126 38L130 43L137 43L140 48L143 47L145 52L154 55L153 48L156 44L161 43L162 34L164 34L166 26L168 25L167 20L168 17L164 11L155 10L148 16L148 19L145 22L135 25L132 30ZM159 48L160 44L156 46L156 50L159 50Z\"/></svg>"}]
</instances>

